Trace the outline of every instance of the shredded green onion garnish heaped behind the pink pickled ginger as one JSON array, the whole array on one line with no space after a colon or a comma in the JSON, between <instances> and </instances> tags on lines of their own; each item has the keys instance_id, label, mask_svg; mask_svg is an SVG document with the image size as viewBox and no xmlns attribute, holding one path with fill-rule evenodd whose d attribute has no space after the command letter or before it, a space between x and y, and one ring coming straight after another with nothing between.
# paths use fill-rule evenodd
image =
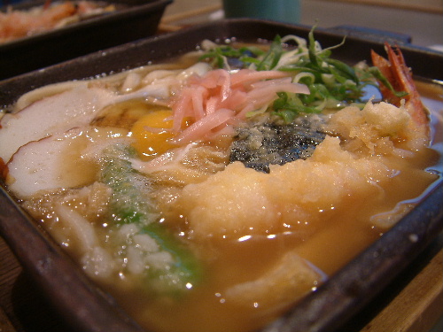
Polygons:
<instances>
[{"instance_id":1,"label":"shredded green onion garnish heaped behind the pink pickled ginger","mask_svg":"<svg viewBox=\"0 0 443 332\"><path fill-rule=\"evenodd\" d=\"M289 48L288 42L295 42L297 46ZM344 42L323 49L315 41L313 29L308 41L296 35L276 36L267 52L255 46L235 49L229 45L212 44L200 59L208 59L212 66L227 70L248 68L294 73L293 82L307 85L310 93L278 93L278 99L268 110L291 121L299 113L338 110L349 104L362 105L361 97L369 85L377 86L377 80L387 82L377 67L348 66L330 58L332 50ZM397 97L407 95L406 92L394 91L389 84L386 86Z\"/></svg>"}]
</instances>

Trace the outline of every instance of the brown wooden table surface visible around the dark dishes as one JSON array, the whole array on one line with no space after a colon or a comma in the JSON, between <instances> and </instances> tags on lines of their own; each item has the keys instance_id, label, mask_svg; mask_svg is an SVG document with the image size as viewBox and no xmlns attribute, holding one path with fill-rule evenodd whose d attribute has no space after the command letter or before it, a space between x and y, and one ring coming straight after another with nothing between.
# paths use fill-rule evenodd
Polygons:
<instances>
[{"instance_id":1,"label":"brown wooden table surface visible around the dark dishes","mask_svg":"<svg viewBox=\"0 0 443 332\"><path fill-rule=\"evenodd\" d=\"M220 4L215 4L170 15L162 20L159 31L175 31L182 27L176 24L179 20L219 9ZM443 234L440 234L399 278L339 332L440 332L442 317ZM60 331L69 332L70 328L45 301L0 237L0 332Z\"/></svg>"}]
</instances>

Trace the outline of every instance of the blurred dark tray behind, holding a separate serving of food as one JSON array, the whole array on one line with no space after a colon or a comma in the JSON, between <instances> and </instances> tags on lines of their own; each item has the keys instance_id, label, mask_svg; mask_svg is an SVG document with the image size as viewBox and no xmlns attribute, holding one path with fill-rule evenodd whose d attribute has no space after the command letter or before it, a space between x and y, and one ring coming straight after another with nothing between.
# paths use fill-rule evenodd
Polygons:
<instances>
[{"instance_id":1,"label":"blurred dark tray behind, holding a separate serving of food","mask_svg":"<svg viewBox=\"0 0 443 332\"><path fill-rule=\"evenodd\" d=\"M0 80L154 35L172 1L105 0L103 3L115 5L115 12L0 44ZM12 5L12 9L27 10L43 3L30 1Z\"/></svg>"}]
</instances>

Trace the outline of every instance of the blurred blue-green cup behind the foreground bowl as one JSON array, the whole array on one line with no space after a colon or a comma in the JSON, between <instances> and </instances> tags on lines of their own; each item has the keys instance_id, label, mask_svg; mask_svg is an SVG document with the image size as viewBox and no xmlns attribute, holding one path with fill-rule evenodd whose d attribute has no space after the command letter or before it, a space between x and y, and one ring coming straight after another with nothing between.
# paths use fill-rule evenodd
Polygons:
<instances>
[{"instance_id":1,"label":"blurred blue-green cup behind the foreground bowl","mask_svg":"<svg viewBox=\"0 0 443 332\"><path fill-rule=\"evenodd\" d=\"M299 23L300 0L223 0L226 18L270 19Z\"/></svg>"}]
</instances>

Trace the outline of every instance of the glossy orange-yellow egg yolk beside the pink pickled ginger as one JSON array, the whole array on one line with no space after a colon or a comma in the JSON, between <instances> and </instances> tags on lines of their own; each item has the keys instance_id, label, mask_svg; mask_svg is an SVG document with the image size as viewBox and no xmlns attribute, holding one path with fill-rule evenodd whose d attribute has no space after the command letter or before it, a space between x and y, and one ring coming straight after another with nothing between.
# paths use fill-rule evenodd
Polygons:
<instances>
[{"instance_id":1,"label":"glossy orange-yellow egg yolk beside the pink pickled ginger","mask_svg":"<svg viewBox=\"0 0 443 332\"><path fill-rule=\"evenodd\" d=\"M135 138L134 148L144 160L150 160L172 149L175 134L170 129L173 125L172 111L165 109L149 112L136 121L131 129Z\"/></svg>"}]
</instances>

